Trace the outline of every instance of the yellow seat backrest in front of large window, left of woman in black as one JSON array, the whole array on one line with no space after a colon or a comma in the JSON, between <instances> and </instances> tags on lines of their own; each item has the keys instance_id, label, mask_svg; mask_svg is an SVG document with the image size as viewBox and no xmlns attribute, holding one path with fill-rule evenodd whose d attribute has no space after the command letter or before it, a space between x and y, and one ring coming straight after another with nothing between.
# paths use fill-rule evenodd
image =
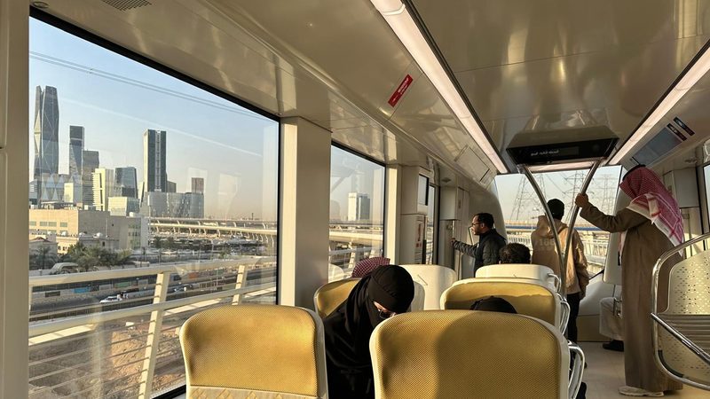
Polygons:
<instances>
[{"instance_id":1,"label":"yellow seat backrest in front of large window, left of woman in black","mask_svg":"<svg viewBox=\"0 0 710 399\"><path fill-rule=\"evenodd\" d=\"M323 324L279 305L207 309L180 329L187 397L326 398Z\"/></svg>"}]
</instances>

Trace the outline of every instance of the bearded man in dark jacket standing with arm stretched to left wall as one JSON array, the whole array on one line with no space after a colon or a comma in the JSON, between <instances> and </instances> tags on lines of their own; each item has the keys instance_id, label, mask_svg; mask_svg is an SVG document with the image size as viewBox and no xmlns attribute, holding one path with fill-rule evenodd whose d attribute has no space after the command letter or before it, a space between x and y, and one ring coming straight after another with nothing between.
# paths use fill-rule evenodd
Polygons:
<instances>
[{"instance_id":1,"label":"bearded man in dark jacket standing with arm stretched to left wall","mask_svg":"<svg viewBox=\"0 0 710 399\"><path fill-rule=\"evenodd\" d=\"M489 264L497 264L499 252L505 246L505 239L493 228L493 215L480 213L473 216L469 227L474 235L478 236L478 243L470 246L464 242L452 239L454 249L473 258L473 272Z\"/></svg>"}]
</instances>

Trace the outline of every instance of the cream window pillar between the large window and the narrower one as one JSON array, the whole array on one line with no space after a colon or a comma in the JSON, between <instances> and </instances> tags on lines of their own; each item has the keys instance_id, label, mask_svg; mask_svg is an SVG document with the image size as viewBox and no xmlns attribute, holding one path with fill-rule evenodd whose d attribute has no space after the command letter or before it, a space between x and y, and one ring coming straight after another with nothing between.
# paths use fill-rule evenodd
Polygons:
<instances>
[{"instance_id":1,"label":"cream window pillar between the large window and the narrower one","mask_svg":"<svg viewBox=\"0 0 710 399\"><path fill-rule=\"evenodd\" d=\"M281 121L279 299L313 309L327 283L330 132L302 118Z\"/></svg>"}]
</instances>

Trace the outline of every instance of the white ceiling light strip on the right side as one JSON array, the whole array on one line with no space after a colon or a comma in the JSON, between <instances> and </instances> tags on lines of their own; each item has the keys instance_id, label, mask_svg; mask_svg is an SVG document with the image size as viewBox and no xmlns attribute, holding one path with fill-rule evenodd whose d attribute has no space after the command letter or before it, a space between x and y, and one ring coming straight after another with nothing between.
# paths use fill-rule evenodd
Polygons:
<instances>
[{"instance_id":1,"label":"white ceiling light strip on the right side","mask_svg":"<svg viewBox=\"0 0 710 399\"><path fill-rule=\"evenodd\" d=\"M678 84L673 90L670 90L659 106L653 110L651 115L639 126L638 129L628 137L627 142L619 148L619 151L611 157L609 163L618 164L624 157L627 156L635 146L638 145L645 137L651 134L651 129L658 123L670 110L681 100L690 89L695 86L700 78L705 76L710 70L710 51L706 50L698 61L690 67L690 70L683 75Z\"/></svg>"}]
</instances>

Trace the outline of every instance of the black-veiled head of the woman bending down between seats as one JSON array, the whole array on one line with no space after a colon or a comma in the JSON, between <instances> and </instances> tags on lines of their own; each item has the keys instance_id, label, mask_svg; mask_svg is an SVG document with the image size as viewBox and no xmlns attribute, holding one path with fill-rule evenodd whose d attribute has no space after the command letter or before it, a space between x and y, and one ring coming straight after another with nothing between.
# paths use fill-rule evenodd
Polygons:
<instances>
[{"instance_id":1,"label":"black-veiled head of the woman bending down between seats","mask_svg":"<svg viewBox=\"0 0 710 399\"><path fill-rule=\"evenodd\" d=\"M373 325L409 309L414 299L414 280L408 271L391 264L373 270L370 277L367 296L377 312L377 318L373 320L376 323Z\"/></svg>"}]
</instances>

